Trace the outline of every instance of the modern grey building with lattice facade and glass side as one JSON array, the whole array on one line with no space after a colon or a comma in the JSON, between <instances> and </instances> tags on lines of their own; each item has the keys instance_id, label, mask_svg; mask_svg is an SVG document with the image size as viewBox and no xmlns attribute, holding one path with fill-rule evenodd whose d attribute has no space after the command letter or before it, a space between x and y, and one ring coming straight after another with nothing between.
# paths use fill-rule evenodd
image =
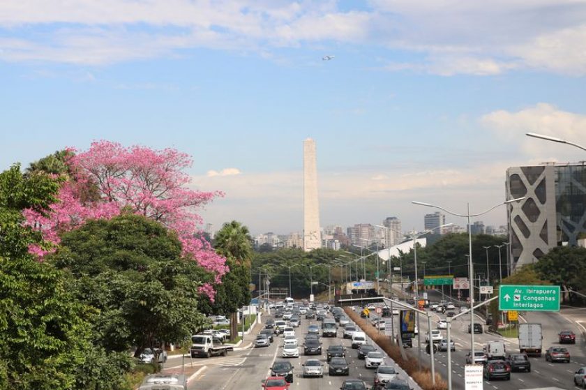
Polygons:
<instances>
[{"instance_id":1,"label":"modern grey building with lattice facade and glass side","mask_svg":"<svg viewBox=\"0 0 586 390\"><path fill-rule=\"evenodd\" d=\"M555 246L577 246L586 235L586 165L546 164L506 170L509 258L514 271Z\"/></svg>"}]
</instances>

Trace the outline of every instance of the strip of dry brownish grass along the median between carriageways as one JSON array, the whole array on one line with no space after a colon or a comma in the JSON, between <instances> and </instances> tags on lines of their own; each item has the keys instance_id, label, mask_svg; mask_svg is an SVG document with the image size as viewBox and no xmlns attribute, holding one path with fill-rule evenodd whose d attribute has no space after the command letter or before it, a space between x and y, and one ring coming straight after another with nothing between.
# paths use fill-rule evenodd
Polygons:
<instances>
[{"instance_id":1,"label":"strip of dry brownish grass along the median between carriageways","mask_svg":"<svg viewBox=\"0 0 586 390\"><path fill-rule=\"evenodd\" d=\"M439 373L435 373L435 384L433 384L431 372L428 368L418 370L419 364L414 357L407 357L404 360L401 356L399 346L393 343L389 336L380 333L370 322L365 322L360 315L352 308L344 308L350 317L379 347L389 355L405 372L410 375L423 390L446 390L447 383Z\"/></svg>"}]
</instances>

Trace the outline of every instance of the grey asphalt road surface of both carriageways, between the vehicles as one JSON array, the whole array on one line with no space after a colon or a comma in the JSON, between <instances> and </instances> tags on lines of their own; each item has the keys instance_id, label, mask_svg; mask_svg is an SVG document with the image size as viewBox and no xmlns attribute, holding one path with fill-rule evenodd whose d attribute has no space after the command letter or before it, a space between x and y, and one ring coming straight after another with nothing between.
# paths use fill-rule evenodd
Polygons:
<instances>
[{"instance_id":1,"label":"grey asphalt road surface of both carriageways, between the vehicles","mask_svg":"<svg viewBox=\"0 0 586 390\"><path fill-rule=\"evenodd\" d=\"M434 299L433 292L430 297ZM439 300L439 298L438 298ZM269 316L270 317L270 316ZM373 320L376 315L371 315ZM510 381L491 380L485 381L485 389L495 390L513 390L513 389L539 389L544 387L553 387L558 389L578 389L573 385L573 373L580 367L586 367L585 340L582 336L582 324L576 322L583 317L579 310L562 310L562 313L529 313L523 316L522 321L539 322L543 329L543 351L550 345L557 345L557 333L562 330L571 330L576 333L576 345L565 345L571 354L571 363L550 363L546 362L544 357L529 358L532 364L530 373L512 373ZM266 316L264 320L266 320ZM350 340L342 338L343 328L338 329L338 338L322 338L322 354L303 356L303 338L307 333L309 324L320 324L316 320L306 320L302 316L301 327L296 328L296 337L299 340L299 358L289 358L288 360L294 365L294 381L291 389L340 389L342 382L348 378L364 380L368 386L372 386L374 373L364 367L364 361L357 359L357 351L350 347ZM437 322L444 319L445 316L440 313L434 313L432 317L432 328L436 329ZM391 321L394 320L395 330L398 329L398 316L386 318L385 333L391 335ZM479 322L481 321L478 319ZM482 322L481 322L482 323ZM454 320L452 323L451 334L456 343L456 351L451 353L452 358L452 384L454 390L463 390L464 386L464 367L465 355L470 349L470 335L467 332L469 317L463 316ZM425 334L428 329L426 317L421 317L420 321L421 345L425 347ZM486 327L484 327L486 329ZM446 334L445 330L442 333ZM518 352L518 342L516 339L502 338L495 333L481 333L474 337L476 350L481 348L490 340L503 340L507 352ZM230 352L227 357L212 357L210 359L186 359L188 373L197 373L193 380L190 381L188 389L209 389L209 390L249 390L260 389L261 381L269 376L269 368L276 360L283 359L280 357L281 344L283 337L276 337L274 343L269 347L254 348ZM326 350L329 345L344 345L347 349L347 361L350 363L349 377L330 377L327 374ZM413 349L408 353L417 357L417 339L413 340ZM318 358L323 363L323 378L303 378L301 377L302 364L307 359ZM429 366L429 355L423 350L421 352L422 363ZM391 359L386 358L386 363L394 364ZM170 359L165 368L178 368L181 359ZM446 352L435 353L435 368L444 379L447 378L447 361ZM407 379L406 375L403 375ZM414 384L412 386L416 387Z\"/></svg>"}]
</instances>

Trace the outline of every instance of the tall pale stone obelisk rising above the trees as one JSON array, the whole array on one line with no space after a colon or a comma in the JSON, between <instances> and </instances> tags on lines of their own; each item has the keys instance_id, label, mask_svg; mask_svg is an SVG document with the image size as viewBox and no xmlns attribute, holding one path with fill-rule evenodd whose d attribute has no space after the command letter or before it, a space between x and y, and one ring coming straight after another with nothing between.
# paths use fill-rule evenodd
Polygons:
<instances>
[{"instance_id":1,"label":"tall pale stone obelisk rising above the trees","mask_svg":"<svg viewBox=\"0 0 586 390\"><path fill-rule=\"evenodd\" d=\"M303 141L303 250L321 247L315 141L308 138Z\"/></svg>"}]
</instances>

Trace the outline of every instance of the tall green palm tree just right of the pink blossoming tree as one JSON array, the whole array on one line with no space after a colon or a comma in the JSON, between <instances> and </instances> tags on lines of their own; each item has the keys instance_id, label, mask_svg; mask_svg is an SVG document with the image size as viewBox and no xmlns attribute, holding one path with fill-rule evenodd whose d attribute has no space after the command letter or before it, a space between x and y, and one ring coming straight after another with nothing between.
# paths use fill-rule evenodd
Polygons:
<instances>
[{"instance_id":1,"label":"tall green palm tree just right of the pink blossoming tree","mask_svg":"<svg viewBox=\"0 0 586 390\"><path fill-rule=\"evenodd\" d=\"M250 275L250 262L253 256L253 248L250 244L252 237L248 227L242 225L236 220L230 223L225 223L220 231L214 237L214 248L218 255L222 255L227 259L227 265L230 267L230 272L234 272L236 268L246 268L246 272L239 272L239 275ZM239 278L236 283L241 286L241 291L248 292L248 284L250 278ZM246 300L246 301L245 301ZM250 301L250 294L243 294L241 301L234 302L234 307L238 308L248 304ZM232 339L238 334L236 329L236 313L232 313L232 320L230 321L230 333Z\"/></svg>"}]
</instances>

